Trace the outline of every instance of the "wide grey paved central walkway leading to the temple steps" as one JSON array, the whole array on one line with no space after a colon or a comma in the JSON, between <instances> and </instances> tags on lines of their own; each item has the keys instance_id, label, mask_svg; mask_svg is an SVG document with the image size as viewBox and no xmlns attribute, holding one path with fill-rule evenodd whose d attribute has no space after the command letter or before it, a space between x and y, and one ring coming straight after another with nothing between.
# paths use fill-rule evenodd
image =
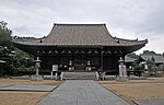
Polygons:
<instances>
[{"instance_id":1,"label":"wide grey paved central walkway leading to the temple steps","mask_svg":"<svg viewBox=\"0 0 164 105\"><path fill-rule=\"evenodd\" d=\"M129 105L93 80L68 80L39 105Z\"/></svg>"}]
</instances>

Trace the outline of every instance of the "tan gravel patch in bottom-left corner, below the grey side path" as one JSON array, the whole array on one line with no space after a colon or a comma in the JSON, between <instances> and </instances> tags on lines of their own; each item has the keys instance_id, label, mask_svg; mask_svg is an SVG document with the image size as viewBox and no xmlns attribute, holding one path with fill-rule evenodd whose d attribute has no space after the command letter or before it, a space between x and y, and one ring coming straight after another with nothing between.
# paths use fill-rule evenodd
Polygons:
<instances>
[{"instance_id":1,"label":"tan gravel patch in bottom-left corner, below the grey side path","mask_svg":"<svg viewBox=\"0 0 164 105\"><path fill-rule=\"evenodd\" d=\"M0 91L0 105L36 105L48 92Z\"/></svg>"}]
</instances>

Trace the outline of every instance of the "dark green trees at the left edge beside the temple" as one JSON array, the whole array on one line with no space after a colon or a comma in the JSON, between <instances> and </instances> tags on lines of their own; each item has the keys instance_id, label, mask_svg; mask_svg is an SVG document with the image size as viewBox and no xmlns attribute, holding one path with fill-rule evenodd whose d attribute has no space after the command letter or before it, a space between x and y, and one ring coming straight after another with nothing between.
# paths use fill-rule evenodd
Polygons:
<instances>
[{"instance_id":1,"label":"dark green trees at the left edge beside the temple","mask_svg":"<svg viewBox=\"0 0 164 105\"><path fill-rule=\"evenodd\" d=\"M7 25L7 22L0 22L0 60L5 61L4 66L0 67L2 75L28 70L34 65L32 56L12 46L12 31Z\"/></svg>"}]
</instances>

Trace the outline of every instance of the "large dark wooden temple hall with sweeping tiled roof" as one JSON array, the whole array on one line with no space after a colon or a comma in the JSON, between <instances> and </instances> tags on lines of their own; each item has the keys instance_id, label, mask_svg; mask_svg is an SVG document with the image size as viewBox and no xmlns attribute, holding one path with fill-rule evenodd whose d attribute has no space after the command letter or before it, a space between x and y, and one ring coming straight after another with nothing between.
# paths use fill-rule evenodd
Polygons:
<instances>
[{"instance_id":1,"label":"large dark wooden temple hall with sweeping tiled roof","mask_svg":"<svg viewBox=\"0 0 164 105\"><path fill-rule=\"evenodd\" d=\"M144 40L113 37L105 24L54 24L44 37L13 42L14 46L39 57L40 72L50 72L52 65L59 71L106 71L118 73L118 60L142 48ZM90 67L90 68L89 68Z\"/></svg>"}]
</instances>

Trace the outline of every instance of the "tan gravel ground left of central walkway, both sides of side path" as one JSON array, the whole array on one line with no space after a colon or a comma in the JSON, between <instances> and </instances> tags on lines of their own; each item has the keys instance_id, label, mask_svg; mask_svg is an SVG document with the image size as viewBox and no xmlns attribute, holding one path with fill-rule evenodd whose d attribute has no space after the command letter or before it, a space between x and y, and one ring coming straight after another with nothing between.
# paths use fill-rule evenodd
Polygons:
<instances>
[{"instance_id":1,"label":"tan gravel ground left of central walkway, both sides of side path","mask_svg":"<svg viewBox=\"0 0 164 105\"><path fill-rule=\"evenodd\" d=\"M0 84L57 85L60 83L60 81L55 80L31 81L21 79L0 79ZM36 105L48 94L49 92L0 91L0 105Z\"/></svg>"}]
</instances>

